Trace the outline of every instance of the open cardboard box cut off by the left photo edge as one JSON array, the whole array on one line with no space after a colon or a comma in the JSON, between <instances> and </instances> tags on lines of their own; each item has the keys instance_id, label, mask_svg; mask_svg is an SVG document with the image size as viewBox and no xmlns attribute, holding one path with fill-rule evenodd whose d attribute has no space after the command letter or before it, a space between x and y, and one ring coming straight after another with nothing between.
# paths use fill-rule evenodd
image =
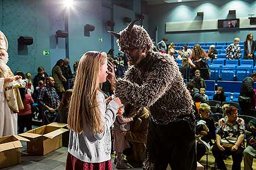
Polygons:
<instances>
[{"instance_id":1,"label":"open cardboard box cut off by the left photo edge","mask_svg":"<svg viewBox=\"0 0 256 170\"><path fill-rule=\"evenodd\" d=\"M0 138L0 169L20 164L20 141L28 139L19 137L18 135L10 135Z\"/></svg>"}]
</instances>

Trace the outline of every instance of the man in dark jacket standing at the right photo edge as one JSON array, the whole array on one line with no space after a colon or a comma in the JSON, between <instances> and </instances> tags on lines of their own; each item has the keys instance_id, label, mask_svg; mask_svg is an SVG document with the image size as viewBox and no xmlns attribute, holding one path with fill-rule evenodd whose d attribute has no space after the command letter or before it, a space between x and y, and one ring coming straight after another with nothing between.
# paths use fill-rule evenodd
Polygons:
<instances>
[{"instance_id":1,"label":"man in dark jacket standing at the right photo edge","mask_svg":"<svg viewBox=\"0 0 256 170\"><path fill-rule=\"evenodd\" d=\"M242 82L241 92L239 96L239 104L242 110L253 109L255 107L253 82L256 81L256 73L246 77Z\"/></svg>"}]
</instances>

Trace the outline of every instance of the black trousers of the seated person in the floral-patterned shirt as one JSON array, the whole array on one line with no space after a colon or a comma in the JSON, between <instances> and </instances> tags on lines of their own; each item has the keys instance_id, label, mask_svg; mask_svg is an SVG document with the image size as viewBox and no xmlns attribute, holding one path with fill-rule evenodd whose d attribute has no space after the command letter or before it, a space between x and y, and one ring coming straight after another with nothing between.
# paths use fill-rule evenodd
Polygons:
<instances>
[{"instance_id":1,"label":"black trousers of the seated person in the floral-patterned shirt","mask_svg":"<svg viewBox=\"0 0 256 170\"><path fill-rule=\"evenodd\" d=\"M215 144L212 148L212 154L219 169L226 169L226 165L224 163L224 155L232 155L232 170L240 170L241 162L243 159L243 150L245 150L245 148L239 146L236 151L231 151L231 148L225 148L225 151L221 151Z\"/></svg>"}]
</instances>

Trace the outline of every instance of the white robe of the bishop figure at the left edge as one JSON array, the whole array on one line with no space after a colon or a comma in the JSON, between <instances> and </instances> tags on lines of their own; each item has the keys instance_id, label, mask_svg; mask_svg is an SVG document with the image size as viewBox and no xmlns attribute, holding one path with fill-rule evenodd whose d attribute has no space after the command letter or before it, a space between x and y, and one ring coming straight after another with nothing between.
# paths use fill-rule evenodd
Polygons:
<instances>
[{"instance_id":1,"label":"white robe of the bishop figure at the left edge","mask_svg":"<svg viewBox=\"0 0 256 170\"><path fill-rule=\"evenodd\" d=\"M13 113L7 104L3 88L4 79L0 78L0 137L18 132L18 113Z\"/></svg>"}]
</instances>

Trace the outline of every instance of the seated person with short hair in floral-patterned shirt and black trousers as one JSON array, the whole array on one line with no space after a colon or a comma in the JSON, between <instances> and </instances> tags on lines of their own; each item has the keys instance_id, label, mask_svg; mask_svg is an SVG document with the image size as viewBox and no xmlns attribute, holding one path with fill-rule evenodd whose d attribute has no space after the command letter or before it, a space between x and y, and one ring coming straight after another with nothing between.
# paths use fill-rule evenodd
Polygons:
<instances>
[{"instance_id":1,"label":"seated person with short hair in floral-patterned shirt and black trousers","mask_svg":"<svg viewBox=\"0 0 256 170\"><path fill-rule=\"evenodd\" d=\"M232 155L232 170L241 170L243 159L245 121L238 117L237 108L230 105L226 108L227 117L218 121L216 143L212 148L212 154L216 160L218 169L226 169L224 154Z\"/></svg>"}]
</instances>

